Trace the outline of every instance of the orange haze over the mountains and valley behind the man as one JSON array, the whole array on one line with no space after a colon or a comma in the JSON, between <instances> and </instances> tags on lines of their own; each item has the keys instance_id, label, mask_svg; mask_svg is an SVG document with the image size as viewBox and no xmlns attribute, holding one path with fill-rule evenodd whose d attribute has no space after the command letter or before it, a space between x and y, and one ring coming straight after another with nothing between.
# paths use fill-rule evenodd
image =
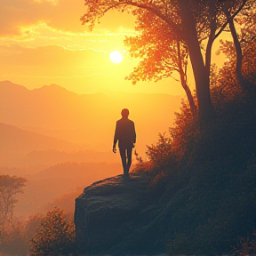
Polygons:
<instances>
[{"instance_id":1,"label":"orange haze over the mountains and valley behind the man","mask_svg":"<svg viewBox=\"0 0 256 256\"><path fill-rule=\"evenodd\" d=\"M122 108L130 109L138 134L136 151L144 160L146 145L155 143L159 132L168 132L174 110L180 108L180 96L78 95L57 84L28 90L4 81L0 95L0 172L28 179L15 209L25 217L44 212L43 205L58 196L77 188L81 193L93 181L122 173L118 154L111 152Z\"/></svg>"}]
</instances>

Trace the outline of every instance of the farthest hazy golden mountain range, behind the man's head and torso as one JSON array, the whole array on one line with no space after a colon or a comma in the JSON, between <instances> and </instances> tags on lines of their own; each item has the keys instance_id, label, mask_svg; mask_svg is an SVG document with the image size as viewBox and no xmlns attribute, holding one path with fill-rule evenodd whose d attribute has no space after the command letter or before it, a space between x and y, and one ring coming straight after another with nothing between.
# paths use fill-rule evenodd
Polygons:
<instances>
[{"instance_id":1,"label":"farthest hazy golden mountain range, behind the man's head and torso","mask_svg":"<svg viewBox=\"0 0 256 256\"><path fill-rule=\"evenodd\" d=\"M159 132L172 126L181 100L180 96L151 93L78 95L56 84L28 90L10 81L0 82L0 95L1 123L99 151L111 149L116 120L122 108L129 108L140 154L146 144L157 140Z\"/></svg>"}]
</instances>

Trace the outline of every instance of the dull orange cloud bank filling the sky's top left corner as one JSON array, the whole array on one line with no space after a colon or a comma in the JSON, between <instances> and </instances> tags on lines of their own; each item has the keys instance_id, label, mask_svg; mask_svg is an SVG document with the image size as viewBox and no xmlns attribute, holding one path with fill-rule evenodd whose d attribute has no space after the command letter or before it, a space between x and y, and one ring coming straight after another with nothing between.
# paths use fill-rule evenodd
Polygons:
<instances>
[{"instance_id":1,"label":"dull orange cloud bank filling the sky's top left corner","mask_svg":"<svg viewBox=\"0 0 256 256\"><path fill-rule=\"evenodd\" d=\"M84 31L79 20L83 9L81 0L0 1L0 31L2 36L21 35L20 28L42 22L60 30Z\"/></svg>"}]
</instances>

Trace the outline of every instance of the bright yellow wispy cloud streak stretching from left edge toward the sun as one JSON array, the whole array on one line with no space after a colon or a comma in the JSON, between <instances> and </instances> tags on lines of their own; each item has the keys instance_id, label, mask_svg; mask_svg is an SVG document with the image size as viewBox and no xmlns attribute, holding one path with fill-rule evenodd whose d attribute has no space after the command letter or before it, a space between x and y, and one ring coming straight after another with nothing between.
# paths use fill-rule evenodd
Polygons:
<instances>
[{"instance_id":1,"label":"bright yellow wispy cloud streak stretching from left edge toward the sun","mask_svg":"<svg viewBox=\"0 0 256 256\"><path fill-rule=\"evenodd\" d=\"M124 47L124 30L122 33L110 33L106 30L91 33L67 32L49 27L46 23L20 28L20 36L3 36L0 45L19 45L23 48L36 48L46 45L58 45L69 51L92 50L108 52L109 45ZM103 33L102 33L103 32ZM131 31L127 29L126 36Z\"/></svg>"}]
</instances>

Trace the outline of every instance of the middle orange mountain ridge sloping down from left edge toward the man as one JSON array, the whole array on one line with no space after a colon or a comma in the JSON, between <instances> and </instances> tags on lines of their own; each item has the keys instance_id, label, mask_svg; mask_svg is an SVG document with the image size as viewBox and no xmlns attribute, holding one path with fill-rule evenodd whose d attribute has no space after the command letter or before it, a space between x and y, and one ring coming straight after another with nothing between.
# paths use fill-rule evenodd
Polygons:
<instances>
[{"instance_id":1,"label":"middle orange mountain ridge sloping down from left edge toward the man","mask_svg":"<svg viewBox=\"0 0 256 256\"><path fill-rule=\"evenodd\" d=\"M10 124L0 123L0 141L0 163L2 166L37 166L36 172L40 171L38 165L51 166L66 162L86 161L116 163L117 161L115 155L110 151L78 150L77 145L66 140L28 132ZM33 171L30 170L30 172ZM12 170L5 170L4 173L13 174ZM21 169L15 172L16 175L21 176L24 175L23 173L25 172Z\"/></svg>"}]
</instances>

